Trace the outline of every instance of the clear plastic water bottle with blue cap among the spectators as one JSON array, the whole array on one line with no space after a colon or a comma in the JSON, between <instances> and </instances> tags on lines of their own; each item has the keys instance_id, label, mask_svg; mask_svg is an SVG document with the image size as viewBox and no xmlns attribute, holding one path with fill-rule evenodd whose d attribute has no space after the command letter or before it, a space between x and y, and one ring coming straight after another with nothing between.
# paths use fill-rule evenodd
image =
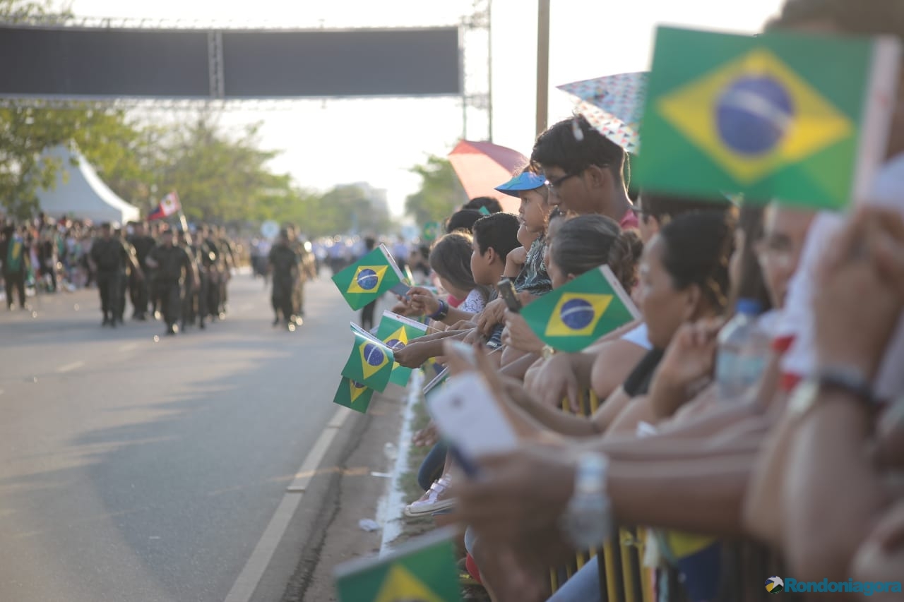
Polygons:
<instances>
[{"instance_id":1,"label":"clear plastic water bottle with blue cap among the spectators","mask_svg":"<svg viewBox=\"0 0 904 602\"><path fill-rule=\"evenodd\" d=\"M758 301L739 299L737 311L719 333L716 383L719 399L742 399L758 383L769 357L769 336L757 324Z\"/></svg>"}]
</instances>

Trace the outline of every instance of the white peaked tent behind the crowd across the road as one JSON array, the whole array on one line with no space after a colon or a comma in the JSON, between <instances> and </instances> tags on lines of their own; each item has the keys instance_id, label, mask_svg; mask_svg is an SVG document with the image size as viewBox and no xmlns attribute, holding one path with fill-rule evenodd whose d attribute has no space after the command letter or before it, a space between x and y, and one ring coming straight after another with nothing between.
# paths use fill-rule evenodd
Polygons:
<instances>
[{"instance_id":1,"label":"white peaked tent behind the crowd across the road","mask_svg":"<svg viewBox=\"0 0 904 602\"><path fill-rule=\"evenodd\" d=\"M119 223L138 219L138 208L111 191L79 152L54 146L45 150L44 156L61 162L56 186L38 191L41 211L49 217L71 215L77 220Z\"/></svg>"}]
</instances>

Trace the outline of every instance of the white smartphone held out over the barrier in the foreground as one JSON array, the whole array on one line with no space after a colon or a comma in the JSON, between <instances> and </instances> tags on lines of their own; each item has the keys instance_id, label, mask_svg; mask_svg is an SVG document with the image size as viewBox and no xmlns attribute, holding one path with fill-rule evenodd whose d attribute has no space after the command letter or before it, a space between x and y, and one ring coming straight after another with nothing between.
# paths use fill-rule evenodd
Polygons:
<instances>
[{"instance_id":1,"label":"white smartphone held out over the barrier in the foreground","mask_svg":"<svg viewBox=\"0 0 904 602\"><path fill-rule=\"evenodd\" d=\"M496 404L486 382L476 372L448 381L428 400L428 411L439 432L455 448L466 469L481 456L504 454L518 447L514 428ZM461 461L461 460L460 460Z\"/></svg>"}]
</instances>

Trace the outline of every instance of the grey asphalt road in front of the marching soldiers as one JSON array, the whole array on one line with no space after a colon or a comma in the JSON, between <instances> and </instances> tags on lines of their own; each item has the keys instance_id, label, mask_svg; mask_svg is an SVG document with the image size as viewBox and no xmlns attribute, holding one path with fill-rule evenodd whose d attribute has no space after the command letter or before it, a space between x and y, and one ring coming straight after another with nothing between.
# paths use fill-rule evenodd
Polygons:
<instances>
[{"instance_id":1,"label":"grey asphalt road in front of the marching soldiers","mask_svg":"<svg viewBox=\"0 0 904 602\"><path fill-rule=\"evenodd\" d=\"M224 322L157 342L94 290L0 310L0 602L226 597L336 409L353 312L307 292L287 333L238 276Z\"/></svg>"}]
</instances>

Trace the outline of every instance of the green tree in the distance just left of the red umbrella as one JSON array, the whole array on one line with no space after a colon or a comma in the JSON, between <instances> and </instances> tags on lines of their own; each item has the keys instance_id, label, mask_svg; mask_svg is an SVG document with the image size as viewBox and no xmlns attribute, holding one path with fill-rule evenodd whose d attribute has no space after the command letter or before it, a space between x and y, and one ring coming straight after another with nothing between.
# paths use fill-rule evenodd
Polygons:
<instances>
[{"instance_id":1,"label":"green tree in the distance just left of the red umbrella","mask_svg":"<svg viewBox=\"0 0 904 602\"><path fill-rule=\"evenodd\" d=\"M424 165L410 171L420 176L421 183L420 190L405 199L405 212L419 224L443 221L467 201L465 189L447 159L430 155Z\"/></svg>"}]
</instances>

